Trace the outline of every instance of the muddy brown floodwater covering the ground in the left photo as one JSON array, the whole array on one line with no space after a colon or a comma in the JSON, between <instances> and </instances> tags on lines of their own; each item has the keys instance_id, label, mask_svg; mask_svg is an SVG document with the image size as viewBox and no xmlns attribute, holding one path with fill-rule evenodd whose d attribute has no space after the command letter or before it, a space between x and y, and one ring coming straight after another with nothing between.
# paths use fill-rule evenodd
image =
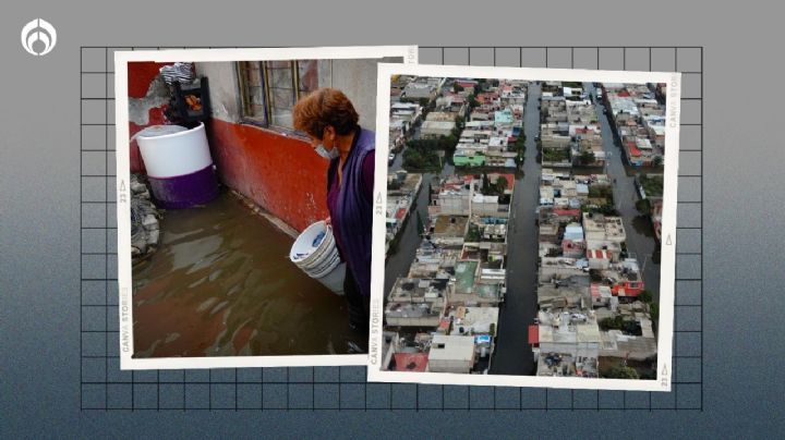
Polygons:
<instances>
[{"instance_id":1,"label":"muddy brown floodwater covering the ground in the left photo","mask_svg":"<svg viewBox=\"0 0 785 440\"><path fill-rule=\"evenodd\" d=\"M222 193L169 210L133 268L134 357L365 353L345 300L288 258L293 239Z\"/></svg>"}]
</instances>

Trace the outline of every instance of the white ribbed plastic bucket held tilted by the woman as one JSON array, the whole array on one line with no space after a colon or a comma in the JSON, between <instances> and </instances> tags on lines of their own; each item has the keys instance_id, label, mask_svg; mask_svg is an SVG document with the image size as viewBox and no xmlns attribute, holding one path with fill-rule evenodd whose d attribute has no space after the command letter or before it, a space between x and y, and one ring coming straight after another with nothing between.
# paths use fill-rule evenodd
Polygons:
<instances>
[{"instance_id":1,"label":"white ribbed plastic bucket held tilted by the woman","mask_svg":"<svg viewBox=\"0 0 785 440\"><path fill-rule=\"evenodd\" d=\"M325 235L314 247L313 242L322 232ZM333 229L324 221L311 224L297 237L289 252L289 259L327 289L339 295L343 294L346 265L340 260Z\"/></svg>"}]
</instances>

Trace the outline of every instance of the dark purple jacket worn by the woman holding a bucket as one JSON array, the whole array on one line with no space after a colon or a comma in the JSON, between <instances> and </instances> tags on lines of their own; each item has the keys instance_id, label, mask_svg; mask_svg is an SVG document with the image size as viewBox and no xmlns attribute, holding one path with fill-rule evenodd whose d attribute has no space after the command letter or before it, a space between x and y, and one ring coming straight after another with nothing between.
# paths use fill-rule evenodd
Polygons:
<instances>
[{"instance_id":1,"label":"dark purple jacket worn by the woman holding a bucket","mask_svg":"<svg viewBox=\"0 0 785 440\"><path fill-rule=\"evenodd\" d=\"M334 228L338 229L336 237L340 241L339 248L349 269L354 274L360 293L371 296L371 232L373 229L373 204L369 200L363 182L363 161L369 152L376 149L374 132L360 130L346 164L343 180L338 193L338 203L330 210ZM327 185L337 178L338 162L330 161L327 171ZM371 180L373 182L373 179ZM329 191L329 190L328 190Z\"/></svg>"}]
</instances>

